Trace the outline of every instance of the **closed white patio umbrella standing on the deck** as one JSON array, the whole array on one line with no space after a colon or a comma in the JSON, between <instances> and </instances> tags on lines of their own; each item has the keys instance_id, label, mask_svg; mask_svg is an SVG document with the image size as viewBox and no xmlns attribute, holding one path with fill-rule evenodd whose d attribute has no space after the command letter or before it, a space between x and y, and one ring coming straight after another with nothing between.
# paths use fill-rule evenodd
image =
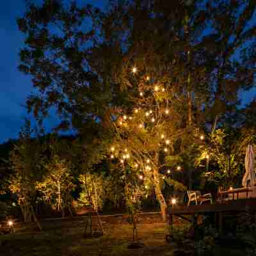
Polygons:
<instances>
[{"instance_id":1,"label":"closed white patio umbrella standing on the deck","mask_svg":"<svg viewBox=\"0 0 256 256\"><path fill-rule=\"evenodd\" d=\"M245 173L243 177L242 184L244 187L254 186L256 184L256 177L254 172L254 152L252 145L248 145L246 148L245 155Z\"/></svg>"}]
</instances>

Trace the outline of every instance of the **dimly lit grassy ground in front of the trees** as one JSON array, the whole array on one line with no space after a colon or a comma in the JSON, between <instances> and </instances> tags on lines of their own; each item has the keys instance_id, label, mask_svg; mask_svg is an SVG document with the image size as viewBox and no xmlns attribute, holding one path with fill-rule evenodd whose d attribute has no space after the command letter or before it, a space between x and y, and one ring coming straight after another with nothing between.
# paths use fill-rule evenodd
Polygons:
<instances>
[{"instance_id":1,"label":"dimly lit grassy ground in front of the trees","mask_svg":"<svg viewBox=\"0 0 256 256\"><path fill-rule=\"evenodd\" d=\"M165 241L167 225L164 223L146 221L138 225L139 238L145 246L131 250L127 248L132 241L131 225L124 221L104 221L104 236L83 239L83 221L82 218L42 221L42 232L23 230L0 236L0 255L173 255L173 248Z\"/></svg>"}]
</instances>

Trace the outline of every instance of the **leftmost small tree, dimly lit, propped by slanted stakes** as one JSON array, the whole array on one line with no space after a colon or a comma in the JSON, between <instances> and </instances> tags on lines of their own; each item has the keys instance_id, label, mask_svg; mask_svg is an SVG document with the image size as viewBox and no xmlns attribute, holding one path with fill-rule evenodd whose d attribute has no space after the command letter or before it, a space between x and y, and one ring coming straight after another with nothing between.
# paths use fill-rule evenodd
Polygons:
<instances>
[{"instance_id":1,"label":"leftmost small tree, dimly lit, propped by slanted stakes","mask_svg":"<svg viewBox=\"0 0 256 256\"><path fill-rule=\"evenodd\" d=\"M20 138L10 152L10 163L13 175L10 179L10 191L17 195L24 222L34 218L38 228L38 223L33 204L36 196L36 180L41 179L40 144L36 138L32 138L30 123L26 121L24 128L20 131Z\"/></svg>"}]
</instances>

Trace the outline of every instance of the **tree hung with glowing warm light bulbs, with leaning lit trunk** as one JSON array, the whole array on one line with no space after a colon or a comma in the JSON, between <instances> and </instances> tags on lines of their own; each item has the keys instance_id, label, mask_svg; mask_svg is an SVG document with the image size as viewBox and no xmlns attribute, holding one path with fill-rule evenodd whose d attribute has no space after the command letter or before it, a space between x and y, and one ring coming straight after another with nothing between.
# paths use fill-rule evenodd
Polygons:
<instances>
[{"instance_id":1,"label":"tree hung with glowing warm light bulbs, with leaning lit trunk","mask_svg":"<svg viewBox=\"0 0 256 256\"><path fill-rule=\"evenodd\" d=\"M118 158L120 166L128 164L137 170L138 179L144 180L146 189L154 188L165 218L166 200L161 191L162 183L166 180L174 187L184 189L170 178L166 164L168 156L175 154L177 138L184 134L182 115L177 111L173 88L166 86L163 80L154 80L149 74L140 76L136 67L131 72L133 79L139 81L138 91L131 99L133 108L127 108L122 115L116 116L116 137L110 148L110 157ZM180 170L182 167L177 164L175 168Z\"/></svg>"}]
</instances>

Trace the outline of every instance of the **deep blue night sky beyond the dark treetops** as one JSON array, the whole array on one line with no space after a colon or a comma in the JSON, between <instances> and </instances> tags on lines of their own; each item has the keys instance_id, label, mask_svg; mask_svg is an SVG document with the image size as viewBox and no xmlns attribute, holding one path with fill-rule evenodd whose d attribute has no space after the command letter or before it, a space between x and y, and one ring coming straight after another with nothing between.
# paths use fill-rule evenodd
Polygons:
<instances>
[{"instance_id":1,"label":"deep blue night sky beyond the dark treetops","mask_svg":"<svg viewBox=\"0 0 256 256\"><path fill-rule=\"evenodd\" d=\"M36 0L36 2L40 0ZM80 3L93 3L104 8L108 0L78 1ZM23 35L20 33L16 18L25 11L24 0L2 0L0 8L0 143L17 138L24 118L28 116L24 104L26 97L32 90L30 77L20 73L19 50L23 45ZM255 93L253 93L255 95ZM253 98L252 93L244 94L244 102ZM56 124L52 115L45 125L50 131Z\"/></svg>"}]
</instances>

